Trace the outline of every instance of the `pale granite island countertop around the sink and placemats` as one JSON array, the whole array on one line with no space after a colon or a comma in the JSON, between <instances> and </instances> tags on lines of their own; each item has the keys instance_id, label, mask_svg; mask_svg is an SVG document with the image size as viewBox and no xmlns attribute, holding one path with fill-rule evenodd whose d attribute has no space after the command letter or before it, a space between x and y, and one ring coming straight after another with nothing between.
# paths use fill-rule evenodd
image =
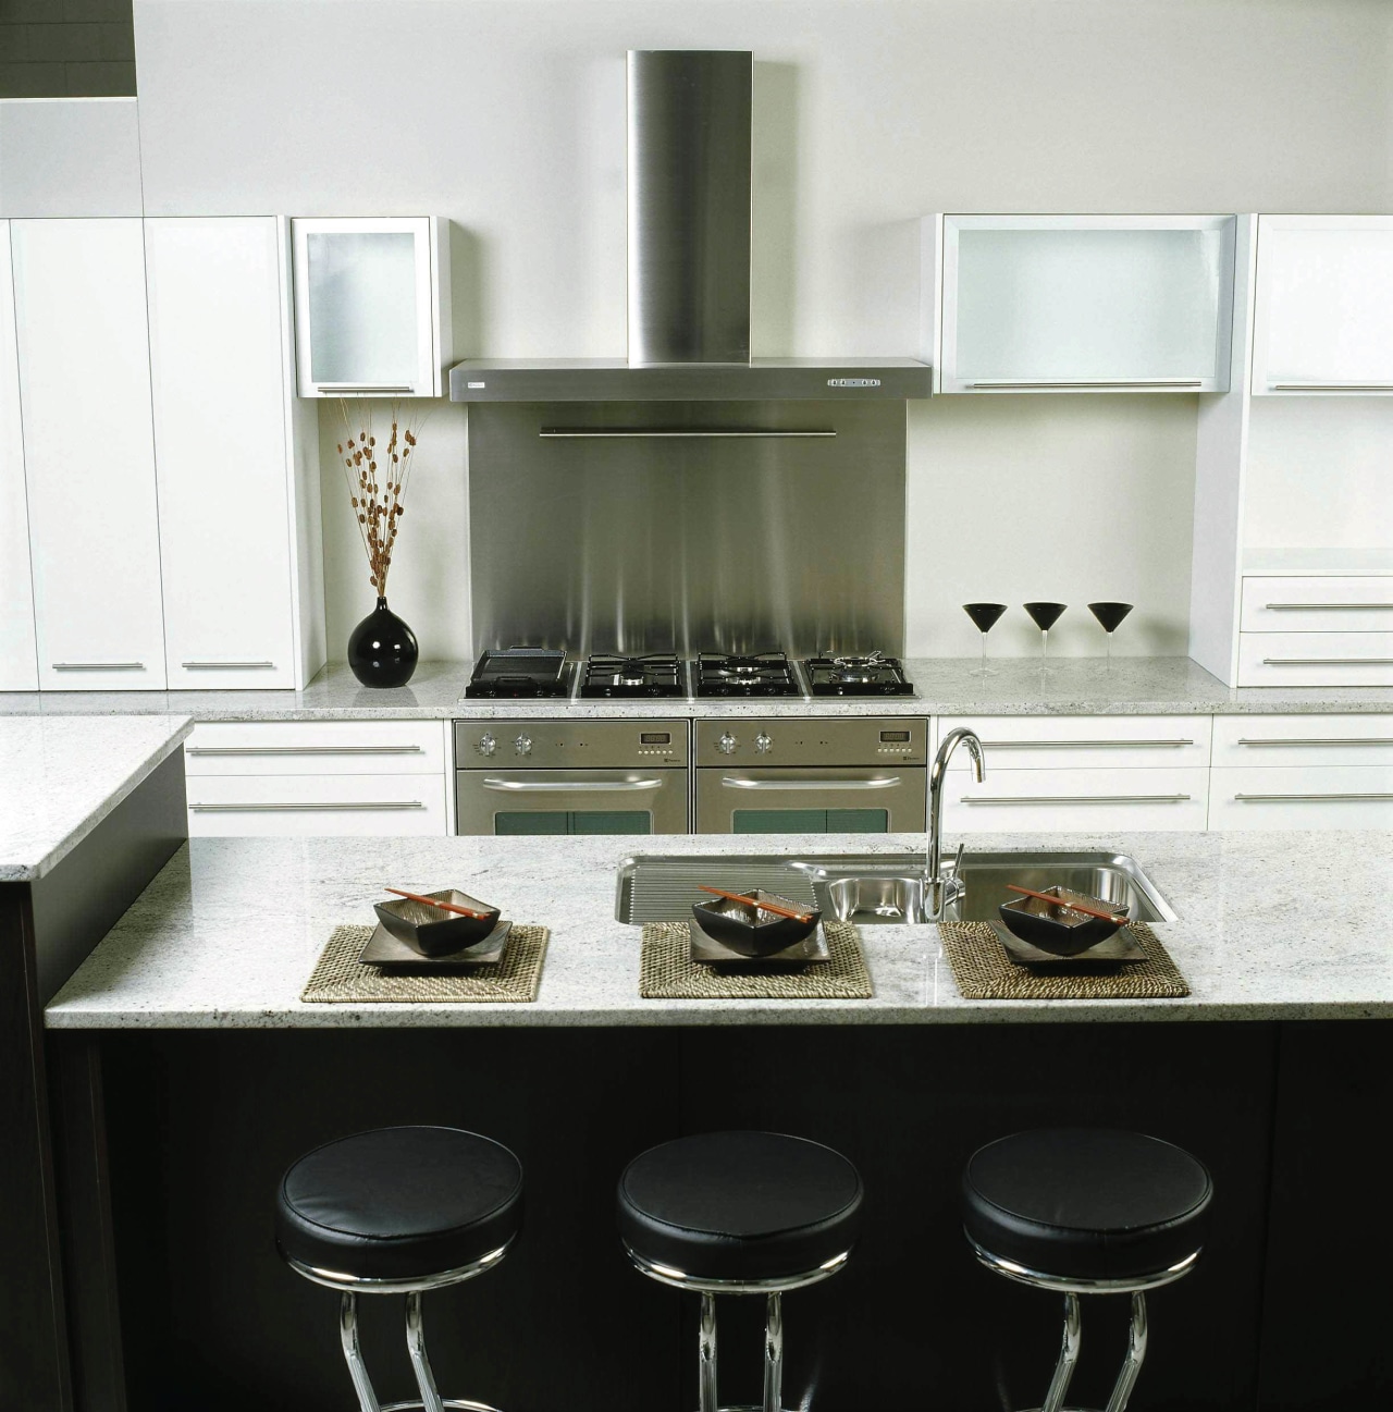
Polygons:
<instances>
[{"instance_id":1,"label":"pale granite island countertop around the sink and placemats","mask_svg":"<svg viewBox=\"0 0 1393 1412\"><path fill-rule=\"evenodd\" d=\"M951 840L955 846L957 839ZM927 1024L1393 1018L1393 833L978 834L968 849L1135 856L1178 921L1156 932L1186 1000L965 1001L933 926L867 926L868 1001L656 1001L639 931L615 921L629 853L749 853L748 839L196 839L47 1011L54 1029L445 1025ZM922 834L766 836L795 857L923 847ZM381 885L454 885L550 926L532 1004L313 1004L299 993L333 928L371 922Z\"/></svg>"}]
</instances>

